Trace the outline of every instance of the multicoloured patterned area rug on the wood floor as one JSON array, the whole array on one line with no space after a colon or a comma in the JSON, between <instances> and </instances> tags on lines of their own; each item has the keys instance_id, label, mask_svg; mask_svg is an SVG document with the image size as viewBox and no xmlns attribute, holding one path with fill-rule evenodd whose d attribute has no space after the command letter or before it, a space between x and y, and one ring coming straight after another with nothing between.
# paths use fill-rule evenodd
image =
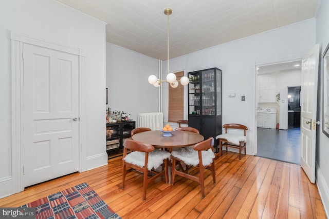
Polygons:
<instances>
[{"instance_id":1,"label":"multicoloured patterned area rug on the wood floor","mask_svg":"<svg viewBox=\"0 0 329 219\"><path fill-rule=\"evenodd\" d=\"M21 206L35 208L35 218L121 218L86 183Z\"/></svg>"}]
</instances>

